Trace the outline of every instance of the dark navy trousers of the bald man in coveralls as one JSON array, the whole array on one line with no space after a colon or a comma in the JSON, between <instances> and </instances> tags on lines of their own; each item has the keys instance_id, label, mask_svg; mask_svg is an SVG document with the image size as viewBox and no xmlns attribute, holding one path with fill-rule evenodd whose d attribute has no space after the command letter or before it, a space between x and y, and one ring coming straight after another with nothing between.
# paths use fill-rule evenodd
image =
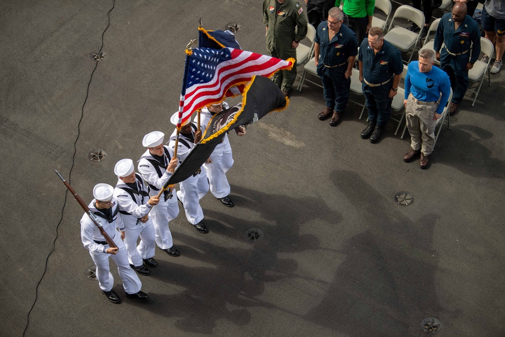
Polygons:
<instances>
[{"instance_id":1,"label":"dark navy trousers of the bald man in coveralls","mask_svg":"<svg viewBox=\"0 0 505 337\"><path fill-rule=\"evenodd\" d=\"M466 69L470 61L469 53L452 56L444 47L440 53L440 69L449 75L453 103L461 103L468 89L468 70Z\"/></svg>"}]
</instances>

